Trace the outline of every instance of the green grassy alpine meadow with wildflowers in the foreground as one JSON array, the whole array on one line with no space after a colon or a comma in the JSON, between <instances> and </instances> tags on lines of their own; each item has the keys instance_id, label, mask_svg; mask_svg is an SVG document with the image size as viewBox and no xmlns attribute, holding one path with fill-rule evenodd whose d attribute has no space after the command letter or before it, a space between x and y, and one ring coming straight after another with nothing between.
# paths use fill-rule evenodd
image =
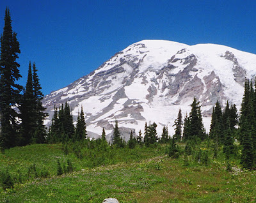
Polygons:
<instances>
[{"instance_id":1,"label":"green grassy alpine meadow with wildflowers in the foreground","mask_svg":"<svg viewBox=\"0 0 256 203\"><path fill-rule=\"evenodd\" d=\"M117 152L116 149L111 150ZM116 163L84 167L88 165L86 157L79 159L73 153L65 155L60 145L9 149L0 154L0 169L4 165L15 174L16 164L35 163L39 166L45 162L44 167L54 172L50 177L33 178L16 183L14 188L6 191L0 190L0 202L102 202L108 197L131 203L256 202L256 172L241 170L236 162L232 162L232 170L228 172L221 156L217 160L210 157L208 165L196 163L189 156L185 166L183 156L172 159L159 147L125 150L113 156ZM134 155L136 153L140 153L138 158ZM127 157L122 161L125 155ZM23 158L18 161L18 157ZM56 176L56 157L72 160L76 172Z\"/></svg>"}]
</instances>

